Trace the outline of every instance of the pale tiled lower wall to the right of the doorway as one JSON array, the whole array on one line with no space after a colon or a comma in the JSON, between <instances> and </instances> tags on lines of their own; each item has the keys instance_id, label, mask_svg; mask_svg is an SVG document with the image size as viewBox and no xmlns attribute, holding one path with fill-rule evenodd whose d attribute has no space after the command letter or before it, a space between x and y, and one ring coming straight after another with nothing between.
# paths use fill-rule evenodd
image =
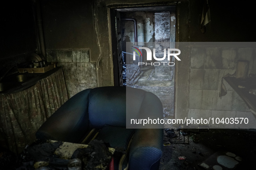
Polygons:
<instances>
[{"instance_id":1,"label":"pale tiled lower wall to the right of the doorway","mask_svg":"<svg viewBox=\"0 0 256 170\"><path fill-rule=\"evenodd\" d=\"M219 92L221 78L236 71L237 60L250 61L249 73L256 73L255 54L253 47L191 47L188 117L253 116L225 80L227 94L220 98Z\"/></svg>"}]
</instances>

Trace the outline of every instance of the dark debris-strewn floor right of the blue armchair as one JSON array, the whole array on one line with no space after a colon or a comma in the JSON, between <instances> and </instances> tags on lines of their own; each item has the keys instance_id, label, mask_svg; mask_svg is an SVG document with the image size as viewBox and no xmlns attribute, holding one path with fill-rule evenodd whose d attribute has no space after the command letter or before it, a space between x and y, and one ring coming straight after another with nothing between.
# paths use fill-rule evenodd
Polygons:
<instances>
[{"instance_id":1,"label":"dark debris-strewn floor right of the blue armchair","mask_svg":"<svg viewBox=\"0 0 256 170\"><path fill-rule=\"evenodd\" d=\"M208 132L186 129L186 131L188 143L172 142L172 136L169 138L165 136L160 170L253 170L255 168L256 131L238 129L209 129Z\"/></svg>"}]
</instances>

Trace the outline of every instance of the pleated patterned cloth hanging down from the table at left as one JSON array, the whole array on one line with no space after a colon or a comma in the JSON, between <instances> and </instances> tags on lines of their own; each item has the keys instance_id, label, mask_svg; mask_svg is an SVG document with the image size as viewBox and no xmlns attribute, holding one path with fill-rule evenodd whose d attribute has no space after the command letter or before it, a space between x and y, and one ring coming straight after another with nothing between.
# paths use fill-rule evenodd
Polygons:
<instances>
[{"instance_id":1,"label":"pleated patterned cloth hanging down from the table at left","mask_svg":"<svg viewBox=\"0 0 256 170\"><path fill-rule=\"evenodd\" d=\"M39 127L68 101L61 67L42 73L36 81L32 86L25 82L31 87L22 91L0 94L0 143L16 154L36 140Z\"/></svg>"}]
</instances>

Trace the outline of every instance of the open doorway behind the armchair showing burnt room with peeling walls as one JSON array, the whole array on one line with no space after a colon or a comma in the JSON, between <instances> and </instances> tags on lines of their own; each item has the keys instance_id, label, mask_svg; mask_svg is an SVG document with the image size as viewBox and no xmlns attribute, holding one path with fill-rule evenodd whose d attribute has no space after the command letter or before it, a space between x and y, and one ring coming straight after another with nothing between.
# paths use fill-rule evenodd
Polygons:
<instances>
[{"instance_id":1,"label":"open doorway behind the armchair showing burnt room with peeling walls","mask_svg":"<svg viewBox=\"0 0 256 170\"><path fill-rule=\"evenodd\" d=\"M175 15L175 6L110 10L114 84L156 94L162 101L166 119L174 118L175 66L166 65L174 59L166 57L161 61L165 65L154 65L142 57L146 55L145 50L140 50L141 53L135 56L133 52L139 47L147 47L152 51L155 49L156 58L162 58L164 49L167 53L168 48L174 48Z\"/></svg>"}]
</instances>

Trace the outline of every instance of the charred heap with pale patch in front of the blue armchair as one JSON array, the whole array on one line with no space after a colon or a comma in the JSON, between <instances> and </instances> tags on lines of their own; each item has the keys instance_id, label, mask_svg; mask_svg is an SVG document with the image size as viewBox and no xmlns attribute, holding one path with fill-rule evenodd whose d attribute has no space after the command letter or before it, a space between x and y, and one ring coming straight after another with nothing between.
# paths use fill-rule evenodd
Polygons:
<instances>
[{"instance_id":1,"label":"charred heap with pale patch in front of the blue armchair","mask_svg":"<svg viewBox=\"0 0 256 170\"><path fill-rule=\"evenodd\" d=\"M91 141L86 148L68 142L37 140L17 157L15 169L101 170L109 165L111 157L107 146L99 140Z\"/></svg>"}]
</instances>

